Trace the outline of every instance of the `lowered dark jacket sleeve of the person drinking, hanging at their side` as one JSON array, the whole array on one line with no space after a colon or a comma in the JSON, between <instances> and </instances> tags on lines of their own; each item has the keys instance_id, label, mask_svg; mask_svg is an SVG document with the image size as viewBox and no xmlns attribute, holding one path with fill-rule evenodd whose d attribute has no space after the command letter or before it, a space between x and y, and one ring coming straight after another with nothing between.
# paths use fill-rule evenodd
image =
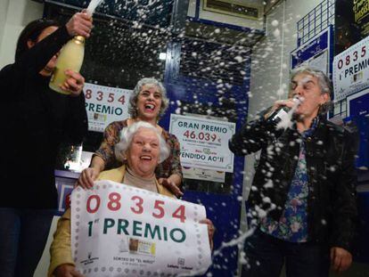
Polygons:
<instances>
[{"instance_id":1,"label":"lowered dark jacket sleeve of the person drinking, hanging at their side","mask_svg":"<svg viewBox=\"0 0 369 277\"><path fill-rule=\"evenodd\" d=\"M334 216L331 246L345 248L351 252L357 229L357 170L355 168L357 148L353 147L357 143L353 134L348 134L347 131L345 133L341 167L338 170L340 177L337 178L332 196Z\"/></svg>"}]
</instances>

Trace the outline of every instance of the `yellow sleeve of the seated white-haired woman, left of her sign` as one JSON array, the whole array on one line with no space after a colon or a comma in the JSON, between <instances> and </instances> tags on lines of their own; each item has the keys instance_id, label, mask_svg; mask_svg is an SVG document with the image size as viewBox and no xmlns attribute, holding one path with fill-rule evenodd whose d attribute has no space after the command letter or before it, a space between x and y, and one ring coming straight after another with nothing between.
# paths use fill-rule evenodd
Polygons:
<instances>
[{"instance_id":1,"label":"yellow sleeve of the seated white-haired woman, left of her sign","mask_svg":"<svg viewBox=\"0 0 369 277\"><path fill-rule=\"evenodd\" d=\"M70 209L68 209L59 219L56 231L53 234L47 276L53 276L54 270L59 265L75 265L71 255L70 243Z\"/></svg>"}]
</instances>

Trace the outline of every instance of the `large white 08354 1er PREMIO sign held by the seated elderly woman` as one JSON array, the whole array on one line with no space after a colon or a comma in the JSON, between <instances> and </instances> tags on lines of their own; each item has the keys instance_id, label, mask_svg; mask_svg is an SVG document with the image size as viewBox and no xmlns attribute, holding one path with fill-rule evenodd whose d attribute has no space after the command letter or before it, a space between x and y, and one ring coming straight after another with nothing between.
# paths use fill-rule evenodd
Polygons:
<instances>
[{"instance_id":1,"label":"large white 08354 1er PREMIO sign held by the seated elderly woman","mask_svg":"<svg viewBox=\"0 0 369 277\"><path fill-rule=\"evenodd\" d=\"M71 196L71 246L85 276L205 273L211 264L201 205L98 181Z\"/></svg>"}]
</instances>

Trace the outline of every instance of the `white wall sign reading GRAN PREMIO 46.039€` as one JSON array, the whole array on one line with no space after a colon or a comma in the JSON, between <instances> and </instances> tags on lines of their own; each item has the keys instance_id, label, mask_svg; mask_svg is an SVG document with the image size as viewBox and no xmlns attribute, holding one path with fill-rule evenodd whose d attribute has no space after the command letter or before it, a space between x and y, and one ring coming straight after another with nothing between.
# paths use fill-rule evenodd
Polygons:
<instances>
[{"instance_id":1,"label":"white wall sign reading GRAN PREMIO 46.039\u20ac","mask_svg":"<svg viewBox=\"0 0 369 277\"><path fill-rule=\"evenodd\" d=\"M183 167L233 172L234 153L228 149L228 141L234 130L232 122L170 115L169 132L176 134L181 144Z\"/></svg>"}]
</instances>

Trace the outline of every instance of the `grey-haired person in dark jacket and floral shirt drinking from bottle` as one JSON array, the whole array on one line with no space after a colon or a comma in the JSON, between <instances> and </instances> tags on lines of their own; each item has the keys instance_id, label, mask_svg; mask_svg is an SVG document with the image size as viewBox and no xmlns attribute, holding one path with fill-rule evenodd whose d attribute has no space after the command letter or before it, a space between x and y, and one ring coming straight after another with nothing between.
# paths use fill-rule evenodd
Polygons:
<instances>
[{"instance_id":1,"label":"grey-haired person in dark jacket and floral shirt drinking from bottle","mask_svg":"<svg viewBox=\"0 0 369 277\"><path fill-rule=\"evenodd\" d=\"M244 124L235 155L260 151L248 199L243 277L328 277L352 263L357 229L355 135L327 120L332 85L323 71L291 71L288 99ZM296 100L299 101L296 101ZM291 121L279 128L280 111ZM282 113L283 114L283 113Z\"/></svg>"}]
</instances>

